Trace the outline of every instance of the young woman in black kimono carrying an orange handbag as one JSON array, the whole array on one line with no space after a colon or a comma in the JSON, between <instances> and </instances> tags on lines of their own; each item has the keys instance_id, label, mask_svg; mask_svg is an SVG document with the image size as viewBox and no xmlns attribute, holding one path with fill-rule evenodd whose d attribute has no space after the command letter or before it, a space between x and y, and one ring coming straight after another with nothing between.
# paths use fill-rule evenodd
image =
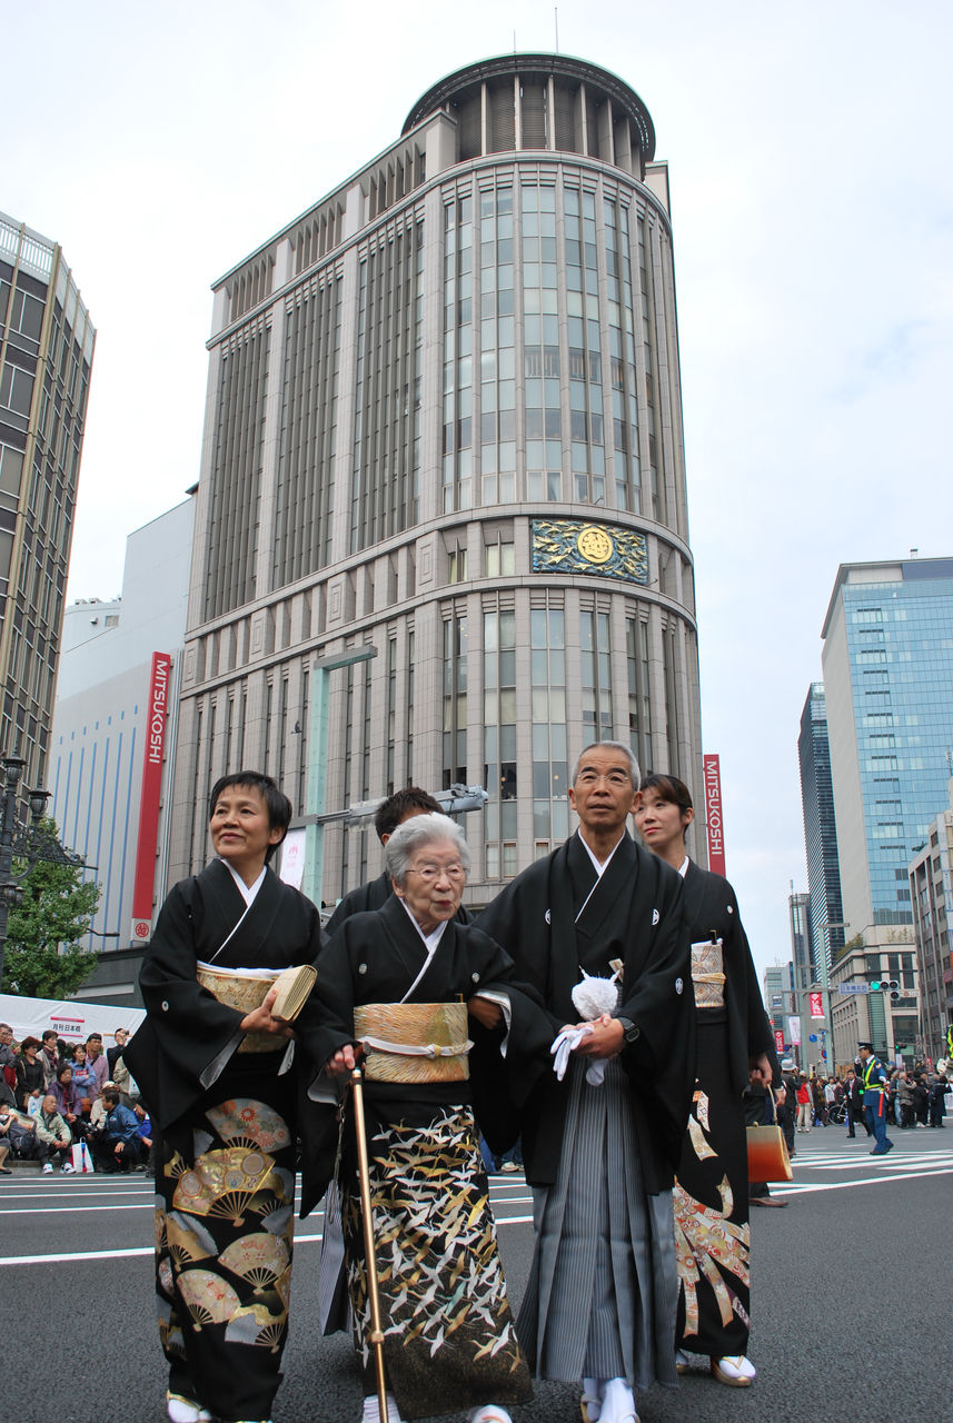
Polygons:
<instances>
[{"instance_id":1,"label":"young woman in black kimono carrying an orange handbag","mask_svg":"<svg viewBox=\"0 0 953 1423\"><path fill-rule=\"evenodd\" d=\"M636 827L684 878L696 995L696 1091L674 1188L680 1349L710 1358L720 1383L747 1387L750 1331L748 1158L742 1094L771 1089L777 1060L734 889L693 864L686 830L691 795L674 776L649 773Z\"/></svg>"}]
</instances>

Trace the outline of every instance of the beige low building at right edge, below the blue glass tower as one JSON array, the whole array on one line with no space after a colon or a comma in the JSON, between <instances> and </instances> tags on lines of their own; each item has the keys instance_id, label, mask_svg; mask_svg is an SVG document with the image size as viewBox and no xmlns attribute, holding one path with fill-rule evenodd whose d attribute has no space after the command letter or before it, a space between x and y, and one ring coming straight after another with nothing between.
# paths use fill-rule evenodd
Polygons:
<instances>
[{"instance_id":1,"label":"beige low building at right edge, below the blue glass tower","mask_svg":"<svg viewBox=\"0 0 953 1423\"><path fill-rule=\"evenodd\" d=\"M922 1057L933 1060L947 1056L946 1030L953 1023L953 780L949 805L930 825L926 842L909 867L920 985L922 1040L917 1047Z\"/></svg>"}]
</instances>

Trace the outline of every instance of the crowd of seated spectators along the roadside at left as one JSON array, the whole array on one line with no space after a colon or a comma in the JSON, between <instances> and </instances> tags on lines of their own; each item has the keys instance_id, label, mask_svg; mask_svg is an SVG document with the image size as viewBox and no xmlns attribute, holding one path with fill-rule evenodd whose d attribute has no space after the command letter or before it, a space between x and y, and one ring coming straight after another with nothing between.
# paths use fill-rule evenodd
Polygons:
<instances>
[{"instance_id":1,"label":"crowd of seated spectators along the roadside at left","mask_svg":"<svg viewBox=\"0 0 953 1423\"><path fill-rule=\"evenodd\" d=\"M128 1033L114 1039L104 1052L101 1033L67 1043L50 1027L17 1043L0 1023L0 1174L37 1161L70 1175L84 1158L97 1171L154 1173L152 1126L122 1062Z\"/></svg>"}]
</instances>

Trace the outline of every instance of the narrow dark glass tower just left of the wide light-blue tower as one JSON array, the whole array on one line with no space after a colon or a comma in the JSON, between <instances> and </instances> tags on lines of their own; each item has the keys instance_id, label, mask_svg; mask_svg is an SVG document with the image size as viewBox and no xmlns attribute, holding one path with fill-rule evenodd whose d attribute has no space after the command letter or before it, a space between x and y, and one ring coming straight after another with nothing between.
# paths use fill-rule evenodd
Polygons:
<instances>
[{"instance_id":1,"label":"narrow dark glass tower just left of the wide light-blue tower","mask_svg":"<svg viewBox=\"0 0 953 1423\"><path fill-rule=\"evenodd\" d=\"M824 683L812 682L801 713L798 737L801 808L811 894L811 959L814 978L826 982L831 962L843 946L843 909L838 868L838 828L831 783L831 746Z\"/></svg>"}]
</instances>

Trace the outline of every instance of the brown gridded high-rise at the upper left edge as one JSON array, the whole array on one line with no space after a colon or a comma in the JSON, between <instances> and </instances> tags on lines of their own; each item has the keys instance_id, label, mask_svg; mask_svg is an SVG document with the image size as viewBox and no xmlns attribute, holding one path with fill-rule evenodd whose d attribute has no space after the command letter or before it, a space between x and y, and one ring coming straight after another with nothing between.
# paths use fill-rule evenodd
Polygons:
<instances>
[{"instance_id":1,"label":"brown gridded high-rise at the upper left edge","mask_svg":"<svg viewBox=\"0 0 953 1423\"><path fill-rule=\"evenodd\" d=\"M0 213L0 753L46 774L95 332L63 249Z\"/></svg>"}]
</instances>

